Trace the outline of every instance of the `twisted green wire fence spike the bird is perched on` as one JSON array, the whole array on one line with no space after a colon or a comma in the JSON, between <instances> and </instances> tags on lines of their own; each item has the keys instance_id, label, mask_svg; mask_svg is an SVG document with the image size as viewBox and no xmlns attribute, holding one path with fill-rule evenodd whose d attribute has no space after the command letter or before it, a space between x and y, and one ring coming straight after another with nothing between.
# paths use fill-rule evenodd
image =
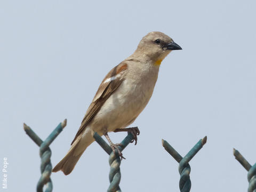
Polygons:
<instances>
[{"instance_id":1,"label":"twisted green wire fence spike the bird is perched on","mask_svg":"<svg viewBox=\"0 0 256 192\"><path fill-rule=\"evenodd\" d=\"M118 155L117 150L113 153L113 150L108 145L106 141L104 141L98 133L94 133L93 137L96 142L106 151L109 155L109 165L110 165L110 172L109 172L109 181L110 185L108 187L108 192L121 192L119 187L119 183L121 181L121 172L120 172L120 165L121 165L121 158ZM127 145L133 140L133 135L128 133L128 135L124 138L121 142L121 145L118 146L120 151L123 151Z\"/></svg>"}]
</instances>

